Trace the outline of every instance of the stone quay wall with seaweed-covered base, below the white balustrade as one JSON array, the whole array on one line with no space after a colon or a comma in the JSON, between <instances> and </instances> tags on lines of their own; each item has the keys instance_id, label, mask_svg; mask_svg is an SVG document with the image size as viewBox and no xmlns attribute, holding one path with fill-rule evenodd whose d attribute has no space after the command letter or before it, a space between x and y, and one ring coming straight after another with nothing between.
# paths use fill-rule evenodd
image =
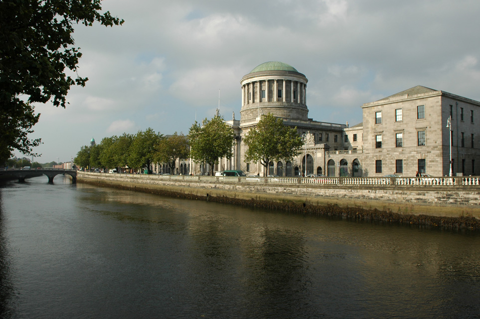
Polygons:
<instances>
[{"instance_id":1,"label":"stone quay wall with seaweed-covered base, below the white balustrade","mask_svg":"<svg viewBox=\"0 0 480 319\"><path fill-rule=\"evenodd\" d=\"M266 184L190 177L197 176L79 172L77 181L296 214L480 230L477 186Z\"/></svg>"}]
</instances>

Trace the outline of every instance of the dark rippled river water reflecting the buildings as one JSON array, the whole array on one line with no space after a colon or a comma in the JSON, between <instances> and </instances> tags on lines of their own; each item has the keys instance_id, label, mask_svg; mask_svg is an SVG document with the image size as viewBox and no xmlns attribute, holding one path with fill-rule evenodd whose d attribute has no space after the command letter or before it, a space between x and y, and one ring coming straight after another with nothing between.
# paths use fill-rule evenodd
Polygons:
<instances>
[{"instance_id":1,"label":"dark rippled river water reflecting the buildings","mask_svg":"<svg viewBox=\"0 0 480 319\"><path fill-rule=\"evenodd\" d=\"M0 318L479 318L480 235L35 177L0 188Z\"/></svg>"}]
</instances>

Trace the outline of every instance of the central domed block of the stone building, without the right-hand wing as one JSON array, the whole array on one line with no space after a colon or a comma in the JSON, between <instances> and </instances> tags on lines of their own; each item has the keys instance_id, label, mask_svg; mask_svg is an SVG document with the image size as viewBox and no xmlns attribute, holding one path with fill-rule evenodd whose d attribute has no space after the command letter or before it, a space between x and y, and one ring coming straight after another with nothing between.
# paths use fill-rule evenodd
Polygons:
<instances>
[{"instance_id":1,"label":"central domed block of the stone building, without the right-hand wing","mask_svg":"<svg viewBox=\"0 0 480 319\"><path fill-rule=\"evenodd\" d=\"M347 126L309 119L308 79L304 74L287 63L271 61L255 67L240 83L242 90L240 120L233 118L227 121L237 135L234 155L231 159L220 160L215 170L239 169L248 174L263 175L264 166L260 163L244 161L246 146L243 138L258 124L262 115L272 113L275 117L283 119L285 125L297 127L299 135L304 136L307 152L302 152L302 155L290 161L270 162L267 174L299 176L306 172L338 175L334 171L337 165L330 162L328 167L325 154L344 150L343 135ZM327 169L330 170L327 172Z\"/></svg>"}]
</instances>

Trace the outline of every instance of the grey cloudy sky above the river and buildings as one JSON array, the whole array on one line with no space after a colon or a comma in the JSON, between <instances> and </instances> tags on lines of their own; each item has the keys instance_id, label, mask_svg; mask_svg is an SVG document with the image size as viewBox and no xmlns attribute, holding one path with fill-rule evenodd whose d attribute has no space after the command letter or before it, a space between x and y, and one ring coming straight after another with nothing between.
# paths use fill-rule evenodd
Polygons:
<instances>
[{"instance_id":1,"label":"grey cloudy sky above the river and buildings","mask_svg":"<svg viewBox=\"0 0 480 319\"><path fill-rule=\"evenodd\" d=\"M309 117L355 125L361 105L416 85L480 100L479 0L105 0L123 26L79 25L66 109L36 105L39 162L92 137L188 133L218 106L240 117L241 78L282 61L309 79ZM17 154L18 155L18 154Z\"/></svg>"}]
</instances>

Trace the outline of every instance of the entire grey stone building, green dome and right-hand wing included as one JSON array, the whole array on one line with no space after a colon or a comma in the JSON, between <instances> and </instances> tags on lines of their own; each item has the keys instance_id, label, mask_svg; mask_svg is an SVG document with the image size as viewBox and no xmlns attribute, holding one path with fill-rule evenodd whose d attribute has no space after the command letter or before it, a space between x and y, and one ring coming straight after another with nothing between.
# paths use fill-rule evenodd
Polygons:
<instances>
[{"instance_id":1,"label":"entire grey stone building, green dome and right-hand wing included","mask_svg":"<svg viewBox=\"0 0 480 319\"><path fill-rule=\"evenodd\" d=\"M434 176L475 175L480 158L480 102L423 86L402 91L362 106L363 122L347 124L314 121L308 117L307 77L282 62L266 62L241 81L240 120L226 120L235 132L231 159L219 159L214 170L236 169L263 175L260 163L246 163L243 139L263 114L272 113L297 127L306 150L289 161L271 162L268 175L383 176L416 171ZM451 117L451 129L447 127ZM449 135L452 134L450 141ZM208 171L181 160L186 173ZM477 160L477 166L480 165ZM180 167L182 167L180 166Z\"/></svg>"}]
</instances>

